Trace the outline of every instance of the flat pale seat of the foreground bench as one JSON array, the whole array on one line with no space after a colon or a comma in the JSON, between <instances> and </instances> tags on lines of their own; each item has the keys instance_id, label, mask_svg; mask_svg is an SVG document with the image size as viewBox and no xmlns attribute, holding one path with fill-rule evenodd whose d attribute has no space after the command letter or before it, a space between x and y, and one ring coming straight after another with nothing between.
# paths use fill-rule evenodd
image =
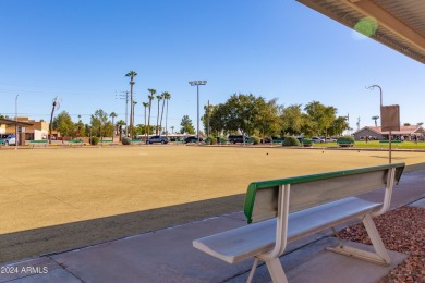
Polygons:
<instances>
[{"instance_id":1,"label":"flat pale seat of the foreground bench","mask_svg":"<svg viewBox=\"0 0 425 283\"><path fill-rule=\"evenodd\" d=\"M288 243L343 223L353 216L362 217L380 206L381 204L350 197L291 213ZM234 263L272 249L275 239L276 219L269 219L195 239L193 246L229 263Z\"/></svg>"}]
</instances>

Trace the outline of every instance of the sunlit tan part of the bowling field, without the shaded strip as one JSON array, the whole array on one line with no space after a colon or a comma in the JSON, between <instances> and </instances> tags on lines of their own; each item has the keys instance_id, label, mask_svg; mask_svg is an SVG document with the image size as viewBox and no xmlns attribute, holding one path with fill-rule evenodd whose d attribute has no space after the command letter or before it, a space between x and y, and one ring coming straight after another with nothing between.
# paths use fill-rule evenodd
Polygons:
<instances>
[{"instance_id":1,"label":"sunlit tan part of the bowling field, without the shaded strip","mask_svg":"<svg viewBox=\"0 0 425 283\"><path fill-rule=\"evenodd\" d=\"M252 181L388 162L387 151L185 146L2 150L0 157L0 234L244 194ZM424 161L423 152L393 152L393 162Z\"/></svg>"}]
</instances>

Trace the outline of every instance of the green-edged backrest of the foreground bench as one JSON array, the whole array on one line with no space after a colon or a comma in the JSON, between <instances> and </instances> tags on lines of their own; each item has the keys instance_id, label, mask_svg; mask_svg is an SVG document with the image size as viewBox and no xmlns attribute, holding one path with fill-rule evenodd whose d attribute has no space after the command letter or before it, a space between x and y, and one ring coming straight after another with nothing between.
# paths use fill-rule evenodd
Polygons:
<instances>
[{"instance_id":1,"label":"green-edged backrest of the foreground bench","mask_svg":"<svg viewBox=\"0 0 425 283\"><path fill-rule=\"evenodd\" d=\"M275 218L279 186L284 185L290 185L289 212L384 188L391 169L396 169L398 182L404 163L253 182L245 195L244 212L248 223Z\"/></svg>"}]
</instances>

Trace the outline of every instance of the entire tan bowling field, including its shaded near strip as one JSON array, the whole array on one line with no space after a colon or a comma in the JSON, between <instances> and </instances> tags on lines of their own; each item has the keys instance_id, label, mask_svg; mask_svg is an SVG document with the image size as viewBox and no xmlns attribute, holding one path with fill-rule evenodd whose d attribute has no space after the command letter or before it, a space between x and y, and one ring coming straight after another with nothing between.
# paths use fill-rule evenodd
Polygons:
<instances>
[{"instance_id":1,"label":"entire tan bowling field, including its shaded near strip","mask_svg":"<svg viewBox=\"0 0 425 283\"><path fill-rule=\"evenodd\" d=\"M252 181L388 163L388 151L135 146L1 150L0 262L242 210ZM392 152L425 162L425 152ZM7 164L7 165L4 165Z\"/></svg>"}]
</instances>

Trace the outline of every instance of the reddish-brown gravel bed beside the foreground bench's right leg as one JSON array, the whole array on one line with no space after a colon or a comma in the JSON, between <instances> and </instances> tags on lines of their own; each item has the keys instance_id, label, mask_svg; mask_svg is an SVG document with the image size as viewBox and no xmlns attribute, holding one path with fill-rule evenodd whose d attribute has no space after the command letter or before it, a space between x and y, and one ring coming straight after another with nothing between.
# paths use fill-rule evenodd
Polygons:
<instances>
[{"instance_id":1,"label":"reddish-brown gravel bed beside the foreground bench's right leg","mask_svg":"<svg viewBox=\"0 0 425 283\"><path fill-rule=\"evenodd\" d=\"M387 249L409 255L380 282L425 282L425 209L402 207L374 221ZM363 224L347 227L338 235L372 245Z\"/></svg>"}]
</instances>

